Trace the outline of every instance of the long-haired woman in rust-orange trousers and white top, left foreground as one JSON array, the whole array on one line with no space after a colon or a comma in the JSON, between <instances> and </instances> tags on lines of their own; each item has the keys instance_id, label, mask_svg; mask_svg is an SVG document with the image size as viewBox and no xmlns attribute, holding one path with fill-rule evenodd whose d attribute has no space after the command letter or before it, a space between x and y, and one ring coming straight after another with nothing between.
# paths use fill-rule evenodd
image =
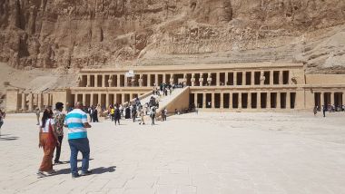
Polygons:
<instances>
[{"instance_id":1,"label":"long-haired woman in rust-orange trousers and white top, left foreground","mask_svg":"<svg viewBox=\"0 0 345 194\"><path fill-rule=\"evenodd\" d=\"M54 173L52 162L54 148L56 143L60 144L54 131L54 124L53 112L50 109L45 109L40 125L38 143L38 148L43 147L44 158L38 172L36 173L38 177L44 177Z\"/></svg>"}]
</instances>

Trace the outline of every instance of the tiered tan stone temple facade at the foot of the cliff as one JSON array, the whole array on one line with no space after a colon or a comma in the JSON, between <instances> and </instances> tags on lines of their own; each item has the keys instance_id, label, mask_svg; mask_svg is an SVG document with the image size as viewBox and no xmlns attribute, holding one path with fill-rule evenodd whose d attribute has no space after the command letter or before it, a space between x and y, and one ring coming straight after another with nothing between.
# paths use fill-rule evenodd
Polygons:
<instances>
[{"instance_id":1,"label":"tiered tan stone temple facade at the foot of the cliff","mask_svg":"<svg viewBox=\"0 0 345 194\"><path fill-rule=\"evenodd\" d=\"M163 104L168 112L192 105L212 111L312 110L345 102L344 74L305 74L301 63L132 66L83 69L78 76L78 87L42 93L8 89L6 111L31 112L55 102L73 106L77 101L107 107L147 98L163 82L185 86Z\"/></svg>"}]
</instances>

